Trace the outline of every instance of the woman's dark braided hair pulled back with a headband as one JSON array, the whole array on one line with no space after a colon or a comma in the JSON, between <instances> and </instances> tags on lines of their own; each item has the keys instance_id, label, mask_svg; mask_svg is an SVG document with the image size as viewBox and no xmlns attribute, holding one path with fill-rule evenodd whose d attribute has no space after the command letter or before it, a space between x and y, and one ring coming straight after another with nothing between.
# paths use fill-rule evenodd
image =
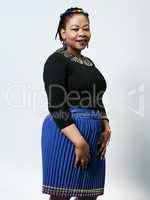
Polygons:
<instances>
[{"instance_id":1,"label":"woman's dark braided hair pulled back with a headband","mask_svg":"<svg viewBox=\"0 0 150 200\"><path fill-rule=\"evenodd\" d=\"M63 38L61 37L60 31L61 31L62 28L65 29L66 22L67 22L67 17L71 17L72 15L74 15L76 13L83 14L87 18L89 16L89 14L87 12L84 12L84 10L82 8L71 7L69 9L67 9L64 13L62 13L60 15L60 20L59 20L59 25L58 25L57 32L56 32L56 35L55 35L55 40L57 39L57 34L58 34L60 41L63 41Z\"/></svg>"}]
</instances>

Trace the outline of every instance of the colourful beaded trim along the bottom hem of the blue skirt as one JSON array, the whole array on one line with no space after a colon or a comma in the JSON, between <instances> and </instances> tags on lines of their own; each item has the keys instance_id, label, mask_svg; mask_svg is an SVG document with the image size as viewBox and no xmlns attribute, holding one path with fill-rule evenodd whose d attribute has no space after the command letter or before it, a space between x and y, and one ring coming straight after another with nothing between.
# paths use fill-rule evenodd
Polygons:
<instances>
[{"instance_id":1,"label":"colourful beaded trim along the bottom hem of the blue skirt","mask_svg":"<svg viewBox=\"0 0 150 200\"><path fill-rule=\"evenodd\" d=\"M42 193L55 195L55 196L79 196L79 197L93 197L104 194L104 188L98 189L65 189L53 186L42 186Z\"/></svg>"}]
</instances>

